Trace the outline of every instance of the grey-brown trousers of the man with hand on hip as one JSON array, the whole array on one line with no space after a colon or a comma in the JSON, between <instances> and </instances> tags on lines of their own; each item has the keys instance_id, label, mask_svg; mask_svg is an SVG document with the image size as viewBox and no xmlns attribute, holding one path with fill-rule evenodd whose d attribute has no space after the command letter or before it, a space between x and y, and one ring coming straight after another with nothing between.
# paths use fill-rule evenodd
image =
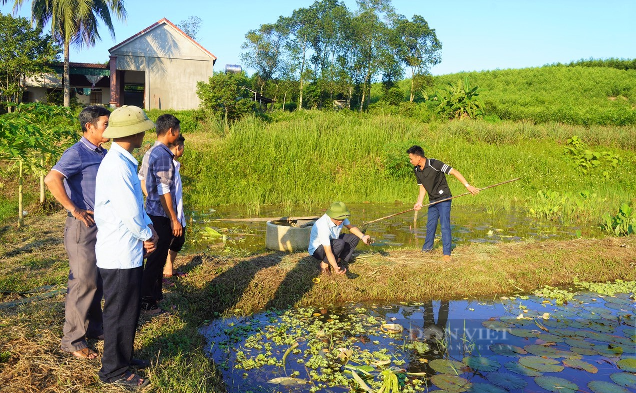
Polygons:
<instances>
[{"instance_id":1,"label":"grey-brown trousers of the man with hand on hip","mask_svg":"<svg viewBox=\"0 0 636 393\"><path fill-rule=\"evenodd\" d=\"M90 228L74 217L67 217L64 245L69 254L69 285L62 350L75 352L88 346L86 338L104 334L102 315L102 277L95 258L97 226Z\"/></svg>"}]
</instances>

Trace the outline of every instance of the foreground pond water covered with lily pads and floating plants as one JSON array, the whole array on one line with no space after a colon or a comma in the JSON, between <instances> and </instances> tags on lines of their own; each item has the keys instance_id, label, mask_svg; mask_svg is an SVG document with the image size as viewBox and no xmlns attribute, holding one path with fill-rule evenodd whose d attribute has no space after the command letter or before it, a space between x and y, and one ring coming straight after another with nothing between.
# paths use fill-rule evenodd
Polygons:
<instances>
[{"instance_id":1,"label":"foreground pond water covered with lily pads and floating plants","mask_svg":"<svg viewBox=\"0 0 636 393\"><path fill-rule=\"evenodd\" d=\"M635 307L633 293L590 292L562 305L348 303L217 319L202 333L230 392L630 392Z\"/></svg>"}]
</instances>

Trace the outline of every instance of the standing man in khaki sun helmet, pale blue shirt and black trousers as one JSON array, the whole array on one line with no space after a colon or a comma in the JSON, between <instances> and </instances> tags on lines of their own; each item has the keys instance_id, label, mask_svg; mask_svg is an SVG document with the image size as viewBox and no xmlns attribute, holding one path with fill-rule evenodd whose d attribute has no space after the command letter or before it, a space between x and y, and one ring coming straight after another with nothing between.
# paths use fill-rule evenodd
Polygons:
<instances>
[{"instance_id":1,"label":"standing man in khaki sun helmet, pale blue shirt and black trousers","mask_svg":"<svg viewBox=\"0 0 636 393\"><path fill-rule=\"evenodd\" d=\"M144 210L138 162L132 151L141 148L155 123L136 106L111 114L104 137L113 144L97 171L95 223L99 228L95 255L104 282L104 354L99 378L126 389L148 385L149 378L130 372L148 362L132 357L140 313L144 256L153 252L157 235Z\"/></svg>"}]
</instances>

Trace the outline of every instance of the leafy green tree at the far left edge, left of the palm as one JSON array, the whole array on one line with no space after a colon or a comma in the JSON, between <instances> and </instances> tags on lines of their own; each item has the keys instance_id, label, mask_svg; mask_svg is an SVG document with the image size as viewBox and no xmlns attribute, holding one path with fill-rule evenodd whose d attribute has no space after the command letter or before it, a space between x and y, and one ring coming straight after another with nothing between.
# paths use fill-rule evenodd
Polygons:
<instances>
[{"instance_id":1,"label":"leafy green tree at the far left edge, left of the palm","mask_svg":"<svg viewBox=\"0 0 636 393\"><path fill-rule=\"evenodd\" d=\"M42 35L41 27L33 29L26 18L0 13L0 100L18 104L24 79L52 72L46 64L58 60L58 53L59 47Z\"/></svg>"}]
</instances>

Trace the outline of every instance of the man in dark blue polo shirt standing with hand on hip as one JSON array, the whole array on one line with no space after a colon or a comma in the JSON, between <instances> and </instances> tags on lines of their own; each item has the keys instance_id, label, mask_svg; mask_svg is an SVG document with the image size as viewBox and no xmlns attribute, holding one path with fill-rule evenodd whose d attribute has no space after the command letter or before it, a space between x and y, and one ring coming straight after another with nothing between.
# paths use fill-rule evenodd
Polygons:
<instances>
[{"instance_id":1,"label":"man in dark blue polo shirt standing with hand on hip","mask_svg":"<svg viewBox=\"0 0 636 393\"><path fill-rule=\"evenodd\" d=\"M77 357L95 359L95 350L86 338L103 338L102 278L95 258L97 226L95 208L95 177L108 142L104 130L110 111L89 106L79 114L83 137L64 152L60 161L46 175L45 183L53 197L68 210L64 245L69 254L69 284L66 293L66 320L62 350Z\"/></svg>"}]
</instances>

